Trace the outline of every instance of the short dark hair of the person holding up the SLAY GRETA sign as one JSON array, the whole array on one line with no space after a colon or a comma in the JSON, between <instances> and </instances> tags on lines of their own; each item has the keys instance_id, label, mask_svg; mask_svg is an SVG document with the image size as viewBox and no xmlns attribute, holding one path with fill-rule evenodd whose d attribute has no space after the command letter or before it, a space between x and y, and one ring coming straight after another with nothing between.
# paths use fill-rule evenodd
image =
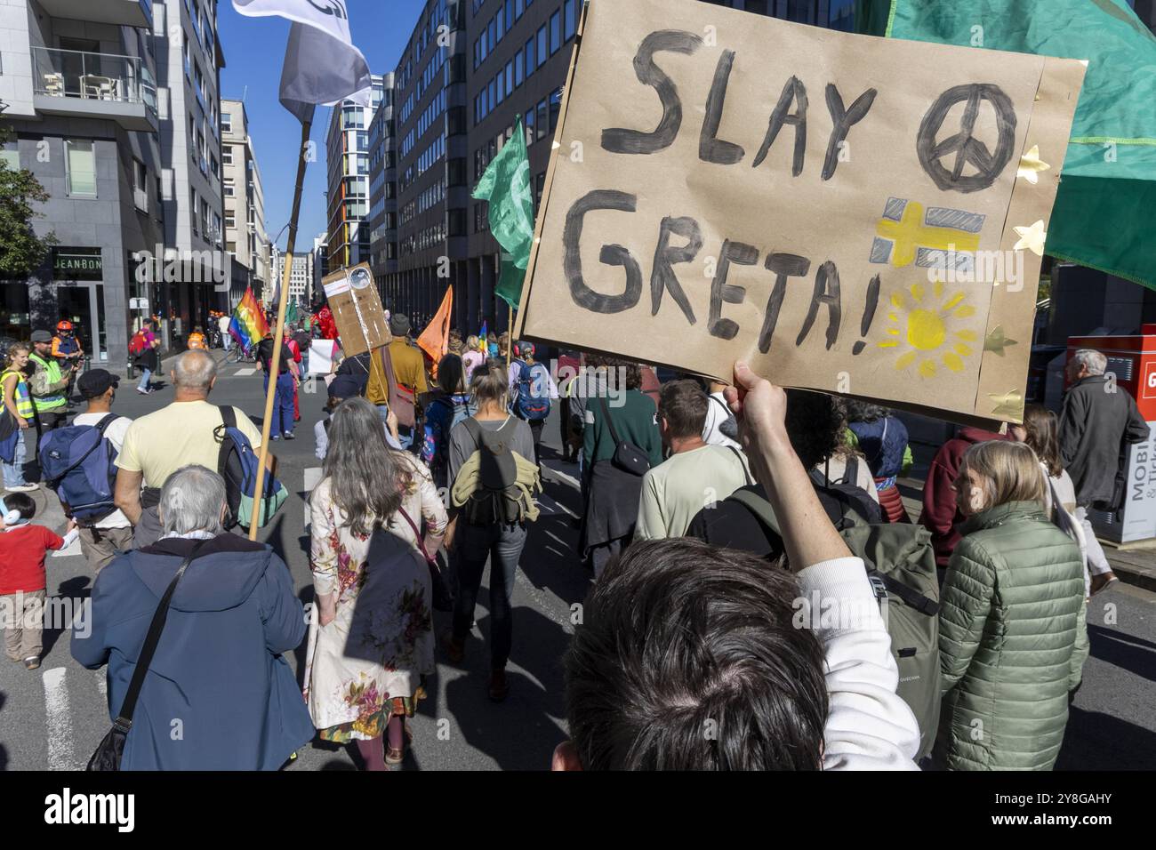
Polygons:
<instances>
[{"instance_id":1,"label":"short dark hair of the person holding up the SLAY GRETA sign","mask_svg":"<svg viewBox=\"0 0 1156 850\"><path fill-rule=\"evenodd\" d=\"M816 770L823 648L795 628L798 584L689 538L610 563L564 659L570 738L586 770Z\"/></svg>"}]
</instances>

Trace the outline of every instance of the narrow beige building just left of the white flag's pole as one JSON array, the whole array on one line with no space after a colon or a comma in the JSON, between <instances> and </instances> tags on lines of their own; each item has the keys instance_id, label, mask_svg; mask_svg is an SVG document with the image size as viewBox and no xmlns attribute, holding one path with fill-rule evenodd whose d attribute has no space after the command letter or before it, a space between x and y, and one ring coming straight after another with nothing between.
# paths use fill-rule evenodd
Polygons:
<instances>
[{"instance_id":1,"label":"narrow beige building just left of the white flag's pole","mask_svg":"<svg viewBox=\"0 0 1156 850\"><path fill-rule=\"evenodd\" d=\"M221 193L224 201L224 250L230 258L231 309L253 288L260 295L269 280L269 237L265 230L265 191L257 164L249 113L242 101L221 101Z\"/></svg>"}]
</instances>

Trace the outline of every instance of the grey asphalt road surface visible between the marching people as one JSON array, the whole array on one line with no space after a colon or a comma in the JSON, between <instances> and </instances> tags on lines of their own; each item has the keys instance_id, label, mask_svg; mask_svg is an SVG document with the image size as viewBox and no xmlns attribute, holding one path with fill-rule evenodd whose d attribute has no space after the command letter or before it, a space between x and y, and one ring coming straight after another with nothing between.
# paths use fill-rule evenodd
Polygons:
<instances>
[{"instance_id":1,"label":"grey asphalt road surface visible between the marching people","mask_svg":"<svg viewBox=\"0 0 1156 850\"><path fill-rule=\"evenodd\" d=\"M212 400L240 407L260 422L261 376L251 364L222 368ZM307 389L307 387L306 387ZM324 383L301 394L299 438L279 442L280 478L290 490L275 520L262 530L289 564L299 597L312 599L307 563L305 498L320 476L313 456L312 424L320 417ZM140 396L123 382L116 411L140 416L172 400L171 387ZM514 636L510 659L511 692L502 704L487 697L489 628L486 587L479 596L477 624L460 666L438 652L429 699L410 724L412 747L401 769L514 769L549 766L555 745L565 738L560 658L570 634L572 607L581 603L590 575L575 556L580 510L577 468L557 453L558 429L550 422L543 436L548 468L542 515L532 527L514 587ZM51 494L38 496L38 522L59 530L64 524ZM82 600L92 575L79 547L75 554L50 557L49 593ZM449 615L436 613L438 631ZM1156 594L1114 585L1095 599L1089 613L1092 657L1076 695L1060 769L1156 768ZM69 770L87 762L109 729L104 672L88 671L68 651L67 631L45 633L44 661L37 671L0 659L0 769ZM290 658L299 670L304 648ZM289 770L346 770L358 762L353 748L319 740L305 748Z\"/></svg>"}]
</instances>

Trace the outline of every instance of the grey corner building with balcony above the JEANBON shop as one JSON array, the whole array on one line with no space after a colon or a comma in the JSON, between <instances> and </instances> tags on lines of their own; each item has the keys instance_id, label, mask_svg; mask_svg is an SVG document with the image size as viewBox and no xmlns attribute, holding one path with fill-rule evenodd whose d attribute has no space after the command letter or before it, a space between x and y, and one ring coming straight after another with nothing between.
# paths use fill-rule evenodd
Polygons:
<instances>
[{"instance_id":1,"label":"grey corner building with balcony above the JEANBON shop","mask_svg":"<svg viewBox=\"0 0 1156 850\"><path fill-rule=\"evenodd\" d=\"M158 66L149 0L0 0L0 110L15 139L0 156L47 191L36 232L55 247L0 281L0 335L60 319L94 363L123 367L134 254L164 242Z\"/></svg>"}]
</instances>

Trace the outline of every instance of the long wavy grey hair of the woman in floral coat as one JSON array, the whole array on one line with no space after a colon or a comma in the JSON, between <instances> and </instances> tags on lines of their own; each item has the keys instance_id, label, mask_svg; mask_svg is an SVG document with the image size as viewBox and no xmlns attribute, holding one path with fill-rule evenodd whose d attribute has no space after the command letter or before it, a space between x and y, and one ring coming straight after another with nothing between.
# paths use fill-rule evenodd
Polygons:
<instances>
[{"instance_id":1,"label":"long wavy grey hair of the woman in floral coat","mask_svg":"<svg viewBox=\"0 0 1156 850\"><path fill-rule=\"evenodd\" d=\"M403 452L385 442L381 416L369 401L346 399L333 412L323 470L333 503L354 534L369 534L401 507L405 463Z\"/></svg>"}]
</instances>

